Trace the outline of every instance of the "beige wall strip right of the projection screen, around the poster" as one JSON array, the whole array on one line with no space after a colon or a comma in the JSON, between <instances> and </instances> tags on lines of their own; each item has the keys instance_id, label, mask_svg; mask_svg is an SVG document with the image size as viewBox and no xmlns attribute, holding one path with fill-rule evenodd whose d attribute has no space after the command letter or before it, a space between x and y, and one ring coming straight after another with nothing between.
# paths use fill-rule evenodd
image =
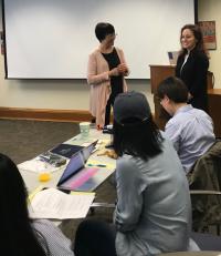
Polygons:
<instances>
[{"instance_id":1,"label":"beige wall strip right of the projection screen, around the poster","mask_svg":"<svg viewBox=\"0 0 221 256\"><path fill-rule=\"evenodd\" d=\"M221 88L221 1L199 0L198 2L199 21L215 21L217 50L210 51L210 71L214 74L214 88Z\"/></svg>"}]
</instances>

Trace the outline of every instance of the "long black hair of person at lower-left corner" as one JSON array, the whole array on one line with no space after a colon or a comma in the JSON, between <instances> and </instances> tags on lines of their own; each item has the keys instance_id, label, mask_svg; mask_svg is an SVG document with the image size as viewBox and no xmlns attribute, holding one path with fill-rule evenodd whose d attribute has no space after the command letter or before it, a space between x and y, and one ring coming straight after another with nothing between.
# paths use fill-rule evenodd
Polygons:
<instances>
[{"instance_id":1,"label":"long black hair of person at lower-left corner","mask_svg":"<svg viewBox=\"0 0 221 256\"><path fill-rule=\"evenodd\" d=\"M8 156L0 154L1 254L46 255L31 226L27 198L24 182L17 165Z\"/></svg>"}]
</instances>

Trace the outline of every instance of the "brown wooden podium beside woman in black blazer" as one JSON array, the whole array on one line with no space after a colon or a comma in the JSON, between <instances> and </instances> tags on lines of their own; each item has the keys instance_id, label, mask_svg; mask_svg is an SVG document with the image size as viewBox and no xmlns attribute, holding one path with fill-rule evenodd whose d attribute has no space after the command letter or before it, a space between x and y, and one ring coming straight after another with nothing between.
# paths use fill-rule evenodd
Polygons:
<instances>
[{"instance_id":1,"label":"brown wooden podium beside woman in black blazer","mask_svg":"<svg viewBox=\"0 0 221 256\"><path fill-rule=\"evenodd\" d=\"M173 75L175 75L175 65L150 65L150 85L151 85L151 93L154 94L154 103L155 103L155 122L158 125L158 127L161 130L165 130L165 124L170 119L170 116L161 107L159 99L156 96L157 86L162 80ZM213 74L212 72L208 71L208 89L212 89L212 88L213 88Z\"/></svg>"}]
</instances>

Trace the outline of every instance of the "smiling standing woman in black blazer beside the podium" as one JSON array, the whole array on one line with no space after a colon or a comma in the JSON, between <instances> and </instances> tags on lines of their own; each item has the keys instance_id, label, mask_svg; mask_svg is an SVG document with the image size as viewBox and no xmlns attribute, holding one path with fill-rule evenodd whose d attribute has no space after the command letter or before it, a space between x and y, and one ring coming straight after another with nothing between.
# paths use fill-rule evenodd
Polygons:
<instances>
[{"instance_id":1,"label":"smiling standing woman in black blazer beside the podium","mask_svg":"<svg viewBox=\"0 0 221 256\"><path fill-rule=\"evenodd\" d=\"M209 58L204 49L202 32L196 24L186 24L180 34L181 51L177 60L176 76L189 90L189 103L208 111L207 73Z\"/></svg>"}]
</instances>

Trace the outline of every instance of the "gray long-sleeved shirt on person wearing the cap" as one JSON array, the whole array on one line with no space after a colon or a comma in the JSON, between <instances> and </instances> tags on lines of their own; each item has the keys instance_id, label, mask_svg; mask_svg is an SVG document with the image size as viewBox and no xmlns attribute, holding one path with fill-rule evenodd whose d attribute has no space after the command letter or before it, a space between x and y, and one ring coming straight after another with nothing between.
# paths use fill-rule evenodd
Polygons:
<instances>
[{"instance_id":1,"label":"gray long-sleeved shirt on person wearing the cap","mask_svg":"<svg viewBox=\"0 0 221 256\"><path fill-rule=\"evenodd\" d=\"M191 229L188 182L172 144L143 161L124 154L117 160L118 256L150 256L187 250Z\"/></svg>"}]
</instances>

